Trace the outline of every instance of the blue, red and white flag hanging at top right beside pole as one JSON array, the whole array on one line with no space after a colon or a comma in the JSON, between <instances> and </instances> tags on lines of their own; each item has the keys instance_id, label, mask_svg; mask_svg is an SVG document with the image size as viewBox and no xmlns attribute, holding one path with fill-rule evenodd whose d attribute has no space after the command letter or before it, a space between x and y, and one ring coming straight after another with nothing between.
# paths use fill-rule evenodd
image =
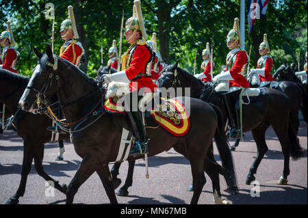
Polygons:
<instances>
[{"instance_id":1,"label":"blue, red and white flag hanging at top right beside pole","mask_svg":"<svg viewBox=\"0 0 308 218\"><path fill-rule=\"evenodd\" d=\"M248 0L247 1L247 21L248 33L253 31L255 20L266 15L268 0Z\"/></svg>"}]
</instances>

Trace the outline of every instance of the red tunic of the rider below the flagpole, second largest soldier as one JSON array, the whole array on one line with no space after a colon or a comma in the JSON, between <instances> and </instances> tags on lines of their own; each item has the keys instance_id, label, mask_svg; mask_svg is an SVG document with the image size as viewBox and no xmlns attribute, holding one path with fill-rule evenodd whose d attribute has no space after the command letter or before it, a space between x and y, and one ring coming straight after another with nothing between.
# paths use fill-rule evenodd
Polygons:
<instances>
[{"instance_id":1,"label":"red tunic of the rider below the flagpole, second largest soldier","mask_svg":"<svg viewBox=\"0 0 308 218\"><path fill-rule=\"evenodd\" d=\"M234 79L230 81L229 83L230 87L232 86L249 87L249 82L247 81L247 79L242 74L240 74L240 72L242 72L242 68L246 63L247 63L246 53L244 51L238 51L238 53L236 54L235 62L232 68L229 70L231 77ZM226 70L228 70L227 66Z\"/></svg>"}]
</instances>

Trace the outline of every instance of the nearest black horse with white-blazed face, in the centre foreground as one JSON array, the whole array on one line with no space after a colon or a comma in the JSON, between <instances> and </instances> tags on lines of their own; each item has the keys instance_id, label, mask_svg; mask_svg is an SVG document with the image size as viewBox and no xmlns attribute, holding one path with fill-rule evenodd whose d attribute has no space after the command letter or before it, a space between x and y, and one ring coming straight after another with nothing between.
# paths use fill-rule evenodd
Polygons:
<instances>
[{"instance_id":1,"label":"nearest black horse with white-blazed face, in the centre foreground","mask_svg":"<svg viewBox=\"0 0 308 218\"><path fill-rule=\"evenodd\" d=\"M34 70L28 88L20 100L20 105L26 111L33 111L36 100L36 91L43 92L47 96L57 93L62 105L62 111L69 123L71 130L79 123L74 121L86 118L88 111L99 109L100 102L104 98L104 88L99 87L97 82L86 76L81 70L70 62L53 55L51 48L47 46L46 54L43 55L34 49L39 58L38 65ZM97 92L102 90L102 92ZM90 96L89 96L90 94ZM88 96L87 98L85 98ZM204 171L210 175L214 187L214 197L220 198L218 167L205 157L211 141L215 136L216 143L224 144L224 153L220 154L226 160L226 173L229 175L228 183L232 191L237 191L235 171L231 152L227 144L227 138L223 133L222 122L218 128L218 115L220 113L198 99L185 97L177 98L183 105L190 100L190 131L183 137L170 135L162 127L147 131L149 141L149 156L174 148L183 154L192 169L194 193L191 204L196 204L200 197L203 185L205 185ZM100 114L101 115L101 114ZM81 119L82 120L82 119ZM205 127L205 123L207 123ZM73 131L73 144L75 151L81 156L82 161L74 178L71 180L66 192L66 204L72 204L75 193L79 187L94 173L97 172L103 182L105 191L112 204L116 204L114 185L110 178L110 169L107 163L116 160L120 144L122 128L131 130L129 120L124 115L103 113L96 122L81 131ZM222 133L221 133L222 131ZM157 137L159 136L159 137ZM128 159L140 159L144 155ZM221 200L220 200L221 201Z\"/></svg>"}]
</instances>

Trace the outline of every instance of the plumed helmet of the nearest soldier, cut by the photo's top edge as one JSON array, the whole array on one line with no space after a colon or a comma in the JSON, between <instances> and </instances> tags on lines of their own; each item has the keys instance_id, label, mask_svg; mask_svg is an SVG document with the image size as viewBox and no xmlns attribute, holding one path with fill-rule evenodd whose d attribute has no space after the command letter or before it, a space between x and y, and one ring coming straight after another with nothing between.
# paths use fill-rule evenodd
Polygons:
<instances>
[{"instance_id":1,"label":"plumed helmet of the nearest soldier, cut by the photo's top edge","mask_svg":"<svg viewBox=\"0 0 308 218\"><path fill-rule=\"evenodd\" d=\"M140 0L133 1L133 16L128 18L125 22L125 31L133 30L133 33L131 34L132 37L135 35L137 30L140 30L142 33L142 38L147 40L140 4Z\"/></svg>"}]
</instances>

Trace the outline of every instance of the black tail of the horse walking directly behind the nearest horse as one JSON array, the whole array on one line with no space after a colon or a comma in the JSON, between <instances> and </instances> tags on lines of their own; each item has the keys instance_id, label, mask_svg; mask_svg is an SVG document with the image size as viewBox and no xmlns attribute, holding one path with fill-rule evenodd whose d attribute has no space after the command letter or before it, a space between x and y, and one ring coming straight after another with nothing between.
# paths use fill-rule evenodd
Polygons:
<instances>
[{"instance_id":1,"label":"black tail of the horse walking directly behind the nearest horse","mask_svg":"<svg viewBox=\"0 0 308 218\"><path fill-rule=\"evenodd\" d=\"M291 144L291 156L294 161L297 159L300 159L301 156L303 156L303 148L300 147L298 137L296 135L295 127L293 125L292 116L289 116L289 128L288 128L288 135L290 139Z\"/></svg>"}]
</instances>

